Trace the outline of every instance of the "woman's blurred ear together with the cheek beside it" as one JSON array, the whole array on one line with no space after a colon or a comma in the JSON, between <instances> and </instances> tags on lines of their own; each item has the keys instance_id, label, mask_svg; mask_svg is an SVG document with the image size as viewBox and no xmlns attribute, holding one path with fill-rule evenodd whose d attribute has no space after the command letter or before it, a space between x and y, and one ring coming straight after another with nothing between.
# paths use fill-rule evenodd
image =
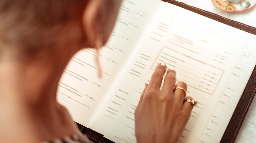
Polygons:
<instances>
[{"instance_id":1,"label":"woman's blurred ear together with the cheek beside it","mask_svg":"<svg viewBox=\"0 0 256 143\"><path fill-rule=\"evenodd\" d=\"M115 25L122 0L88 0L82 15L82 26L86 38L94 47L100 40L104 45Z\"/></svg>"}]
</instances>

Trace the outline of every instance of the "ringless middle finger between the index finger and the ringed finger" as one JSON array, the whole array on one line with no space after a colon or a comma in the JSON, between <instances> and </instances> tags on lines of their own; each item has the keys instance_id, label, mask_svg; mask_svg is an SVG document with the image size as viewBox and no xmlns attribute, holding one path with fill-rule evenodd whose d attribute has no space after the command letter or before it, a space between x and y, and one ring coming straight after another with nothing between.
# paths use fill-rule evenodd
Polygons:
<instances>
[{"instance_id":1,"label":"ringless middle finger between the index finger and the ringed finger","mask_svg":"<svg viewBox=\"0 0 256 143\"><path fill-rule=\"evenodd\" d=\"M166 91L167 93L173 92L173 87L176 83L176 71L168 70L166 76L164 78L162 91Z\"/></svg>"}]
</instances>

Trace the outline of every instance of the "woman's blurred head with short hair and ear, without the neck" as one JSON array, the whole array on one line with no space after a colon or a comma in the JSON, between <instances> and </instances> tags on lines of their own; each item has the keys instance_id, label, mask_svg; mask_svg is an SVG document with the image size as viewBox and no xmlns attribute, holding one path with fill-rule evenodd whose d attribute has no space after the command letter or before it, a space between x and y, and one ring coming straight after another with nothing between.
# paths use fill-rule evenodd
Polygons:
<instances>
[{"instance_id":1,"label":"woman's blurred head with short hair and ear, without the neck","mask_svg":"<svg viewBox=\"0 0 256 143\"><path fill-rule=\"evenodd\" d=\"M37 52L80 42L105 43L121 0L1 0L0 50Z\"/></svg>"}]
</instances>

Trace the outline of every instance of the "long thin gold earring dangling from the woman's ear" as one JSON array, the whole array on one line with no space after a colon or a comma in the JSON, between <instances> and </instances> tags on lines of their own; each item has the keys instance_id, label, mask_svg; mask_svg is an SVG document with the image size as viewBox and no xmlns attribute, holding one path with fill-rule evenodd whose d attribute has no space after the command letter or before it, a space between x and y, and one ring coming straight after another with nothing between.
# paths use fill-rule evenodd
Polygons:
<instances>
[{"instance_id":1,"label":"long thin gold earring dangling from the woman's ear","mask_svg":"<svg viewBox=\"0 0 256 143\"><path fill-rule=\"evenodd\" d=\"M102 41L103 41L102 33L101 34L97 34L96 40L94 42L94 47L96 49L95 60L96 60L97 68L98 68L98 77L99 78L102 77L102 72L101 72L102 70L101 70L101 66L100 66L100 63L99 63L99 48L101 48L103 46L102 45Z\"/></svg>"}]
</instances>

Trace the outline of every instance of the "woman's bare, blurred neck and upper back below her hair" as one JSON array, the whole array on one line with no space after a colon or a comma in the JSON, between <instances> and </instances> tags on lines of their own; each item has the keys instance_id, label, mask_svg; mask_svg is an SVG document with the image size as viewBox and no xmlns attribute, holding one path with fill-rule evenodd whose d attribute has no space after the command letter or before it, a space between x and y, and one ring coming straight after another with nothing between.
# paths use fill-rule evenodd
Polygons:
<instances>
[{"instance_id":1,"label":"woman's bare, blurred neck and upper back below her hair","mask_svg":"<svg viewBox=\"0 0 256 143\"><path fill-rule=\"evenodd\" d=\"M1 139L42 142L79 133L67 110L56 101L59 79L73 54L0 60Z\"/></svg>"}]
</instances>

